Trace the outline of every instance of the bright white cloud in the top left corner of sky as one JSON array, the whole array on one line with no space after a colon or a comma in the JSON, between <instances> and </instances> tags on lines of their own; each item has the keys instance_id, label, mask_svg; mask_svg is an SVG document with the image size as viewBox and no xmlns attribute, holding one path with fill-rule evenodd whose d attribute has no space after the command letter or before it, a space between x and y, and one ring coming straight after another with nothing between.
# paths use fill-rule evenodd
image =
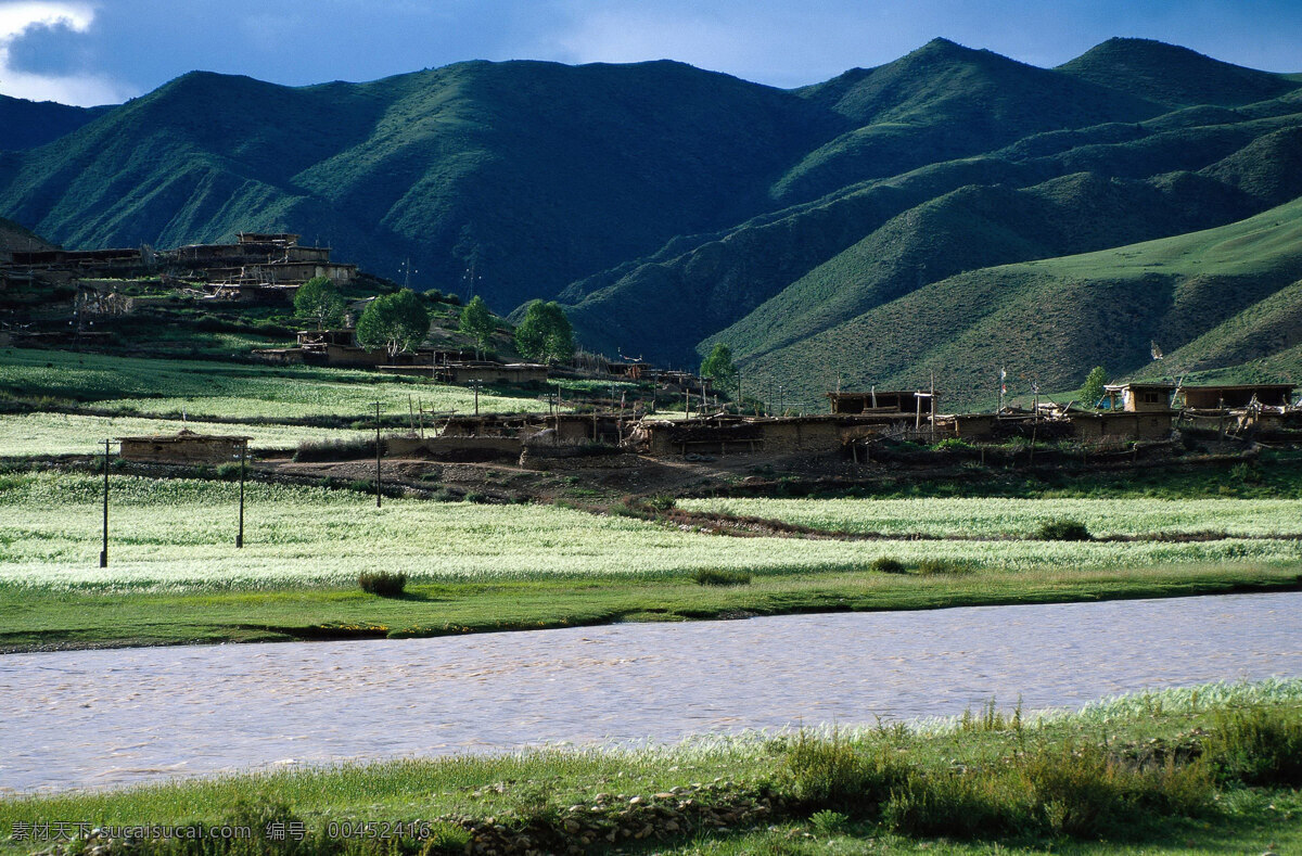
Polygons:
<instances>
[{"instance_id":1,"label":"bright white cloud in the top left corner of sky","mask_svg":"<svg viewBox=\"0 0 1302 856\"><path fill-rule=\"evenodd\" d=\"M95 74L34 74L12 68L9 49L14 40L36 27L65 27L86 33L95 21L95 8L86 3L22 0L0 3L0 92L34 101L60 101L91 107L115 104L132 92L113 79Z\"/></svg>"}]
</instances>

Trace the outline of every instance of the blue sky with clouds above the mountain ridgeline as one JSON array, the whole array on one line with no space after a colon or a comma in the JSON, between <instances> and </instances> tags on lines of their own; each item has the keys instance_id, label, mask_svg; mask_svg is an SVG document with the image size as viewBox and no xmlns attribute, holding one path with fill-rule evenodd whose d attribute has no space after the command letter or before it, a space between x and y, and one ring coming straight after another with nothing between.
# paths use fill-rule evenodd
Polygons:
<instances>
[{"instance_id":1,"label":"blue sky with clouds above the mountain ridgeline","mask_svg":"<svg viewBox=\"0 0 1302 856\"><path fill-rule=\"evenodd\" d=\"M116 103L204 69L368 81L461 60L673 59L773 86L945 36L1052 66L1113 36L1302 72L1302 0L0 0L0 92Z\"/></svg>"}]
</instances>

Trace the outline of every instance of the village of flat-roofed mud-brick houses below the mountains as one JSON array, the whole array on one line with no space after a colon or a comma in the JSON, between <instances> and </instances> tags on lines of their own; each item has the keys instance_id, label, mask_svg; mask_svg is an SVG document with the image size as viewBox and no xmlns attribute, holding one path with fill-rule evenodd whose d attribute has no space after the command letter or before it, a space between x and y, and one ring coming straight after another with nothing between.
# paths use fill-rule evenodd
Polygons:
<instances>
[{"instance_id":1,"label":"village of flat-roofed mud-brick houses below the mountains","mask_svg":"<svg viewBox=\"0 0 1302 856\"><path fill-rule=\"evenodd\" d=\"M288 306L309 280L326 277L346 286L358 268L331 260L328 247L303 246L296 234L240 233L234 243L174 250L13 251L0 259L0 295L25 290L72 293L76 333L30 332L9 325L4 343L59 346L94 343L86 320L129 314L141 298L130 286L182 288L197 303L232 302ZM825 412L799 412L715 389L708 379L658 368L637 359L612 360L579 353L565 363L543 364L477 359L461 342L421 345L393 353L363 347L350 307L344 327L299 329L289 347L258 347L249 356L273 366L359 368L426 377L474 388L518 386L548 397L546 414L434 412L419 408L408 431L381 437L395 459L509 462L533 470L626 470L639 461L711 462L721 458L827 459L840 466L872 466L898 444L956 444L978 448L1023 442L1074 441L1100 450L1168 444L1173 437L1215 442L1293 441L1302 436L1302 407L1293 384L1193 385L1122 382L1107 385L1099 402L1061 405L1036 395L1029 406L1003 405L991 412L944 412L935 388L825 394ZM60 341L62 337L62 341ZM562 407L551 392L556 377L634 384L642 394L626 401L594 398ZM729 393L732 395L729 397ZM613 394L613 393L612 393ZM732 399L730 399L732 398ZM477 399L478 401L478 399ZM669 405L668 402L681 402ZM1096 406L1091 406L1096 405ZM121 438L125 459L152 462L232 461L240 437L148 436Z\"/></svg>"}]
</instances>

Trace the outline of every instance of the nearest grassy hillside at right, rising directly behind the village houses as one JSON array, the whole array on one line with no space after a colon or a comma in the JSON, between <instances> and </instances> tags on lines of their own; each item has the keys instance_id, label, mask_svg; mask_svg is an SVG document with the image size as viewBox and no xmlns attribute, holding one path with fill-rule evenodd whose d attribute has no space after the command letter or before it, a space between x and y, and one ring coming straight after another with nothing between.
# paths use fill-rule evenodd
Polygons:
<instances>
[{"instance_id":1,"label":"nearest grassy hillside at right, rising directly behind the village houses","mask_svg":"<svg viewBox=\"0 0 1302 856\"><path fill-rule=\"evenodd\" d=\"M1095 363L1169 375L1282 353L1302 317L1299 216L1295 200L1217 229L961 273L768 353L749 373L814 399L838 372L845 385L887 388L935 372L953 405L988 398L1000 367L1021 393L1032 381L1078 386Z\"/></svg>"}]
</instances>

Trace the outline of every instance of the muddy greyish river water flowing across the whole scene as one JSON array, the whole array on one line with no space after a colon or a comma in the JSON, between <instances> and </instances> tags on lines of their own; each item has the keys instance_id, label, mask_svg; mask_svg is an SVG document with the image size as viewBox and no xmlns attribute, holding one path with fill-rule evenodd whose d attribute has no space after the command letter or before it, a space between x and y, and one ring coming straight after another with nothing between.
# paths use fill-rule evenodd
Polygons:
<instances>
[{"instance_id":1,"label":"muddy greyish river water flowing across the whole scene","mask_svg":"<svg viewBox=\"0 0 1302 856\"><path fill-rule=\"evenodd\" d=\"M1302 675L1302 593L0 657L0 791Z\"/></svg>"}]
</instances>

